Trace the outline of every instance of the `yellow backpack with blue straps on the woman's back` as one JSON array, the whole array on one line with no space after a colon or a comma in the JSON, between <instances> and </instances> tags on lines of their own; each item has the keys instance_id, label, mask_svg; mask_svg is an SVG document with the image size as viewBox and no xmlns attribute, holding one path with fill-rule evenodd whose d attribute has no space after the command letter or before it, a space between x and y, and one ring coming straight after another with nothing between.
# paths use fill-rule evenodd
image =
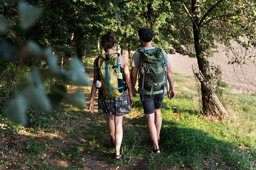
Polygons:
<instances>
[{"instance_id":1,"label":"yellow backpack with blue straps on the woman's back","mask_svg":"<svg viewBox=\"0 0 256 170\"><path fill-rule=\"evenodd\" d=\"M98 55L98 66L96 73L99 73L98 80L102 86L98 88L108 99L115 99L123 94L124 83L120 71L120 59L118 53Z\"/></svg>"}]
</instances>

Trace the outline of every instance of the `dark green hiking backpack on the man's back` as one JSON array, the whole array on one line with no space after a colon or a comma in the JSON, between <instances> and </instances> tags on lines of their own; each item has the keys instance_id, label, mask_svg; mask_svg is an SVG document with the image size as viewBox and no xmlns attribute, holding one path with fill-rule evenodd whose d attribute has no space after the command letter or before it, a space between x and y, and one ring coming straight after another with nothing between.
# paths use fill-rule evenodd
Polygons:
<instances>
[{"instance_id":1,"label":"dark green hiking backpack on the man's back","mask_svg":"<svg viewBox=\"0 0 256 170\"><path fill-rule=\"evenodd\" d=\"M142 91L145 88L154 97L154 91L168 91L167 83L167 62L161 48L153 48L140 52L139 87Z\"/></svg>"}]
</instances>

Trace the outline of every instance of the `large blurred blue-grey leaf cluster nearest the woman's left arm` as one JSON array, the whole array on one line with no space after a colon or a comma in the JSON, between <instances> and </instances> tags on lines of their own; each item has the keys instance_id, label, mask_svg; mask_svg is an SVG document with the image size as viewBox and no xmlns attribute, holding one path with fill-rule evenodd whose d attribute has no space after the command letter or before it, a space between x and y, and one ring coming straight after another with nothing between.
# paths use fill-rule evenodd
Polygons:
<instances>
[{"instance_id":1,"label":"large blurred blue-grey leaf cluster nearest the woman's left arm","mask_svg":"<svg viewBox=\"0 0 256 170\"><path fill-rule=\"evenodd\" d=\"M12 100L6 107L6 116L13 122L26 124L26 111L30 106L36 105L44 111L52 111L57 108L59 102L74 105L84 109L84 94L79 89L73 94L68 94L63 83L51 85L50 92L46 94L45 85L42 83L42 76L54 77L60 82L74 82L76 85L89 85L90 81L83 72L83 67L78 59L70 61L72 70L70 72L59 69L57 56L51 54L48 57L49 69L39 71L35 66L34 73L27 75L28 85L21 89L17 99Z\"/></svg>"}]
</instances>

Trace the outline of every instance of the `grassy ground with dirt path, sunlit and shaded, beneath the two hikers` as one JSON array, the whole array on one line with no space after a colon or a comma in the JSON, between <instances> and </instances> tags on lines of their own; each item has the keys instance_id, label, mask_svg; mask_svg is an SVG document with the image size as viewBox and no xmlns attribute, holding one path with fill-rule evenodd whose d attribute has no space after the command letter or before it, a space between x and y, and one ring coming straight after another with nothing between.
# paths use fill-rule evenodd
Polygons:
<instances>
[{"instance_id":1,"label":"grassy ground with dirt path, sunlit and shaded, beneath the two hikers","mask_svg":"<svg viewBox=\"0 0 256 170\"><path fill-rule=\"evenodd\" d=\"M85 70L90 77L92 64L93 59L87 59ZM171 101L165 97L163 101L162 155L151 153L153 144L137 95L132 113L123 120L120 161L111 158L114 148L109 142L105 115L91 115L87 110L60 105L52 113L30 111L32 121L28 127L16 125L17 133L3 136L9 147L5 147L7 143L0 145L0 169L7 166L76 170L100 163L97 166L104 165L105 169L119 166L120 169L256 170L256 95L236 94L232 88L225 88L223 101L230 116L210 120L198 116L194 78L176 72L174 77L176 97ZM87 108L90 87L83 89ZM10 165L10 162L15 163Z\"/></svg>"}]
</instances>

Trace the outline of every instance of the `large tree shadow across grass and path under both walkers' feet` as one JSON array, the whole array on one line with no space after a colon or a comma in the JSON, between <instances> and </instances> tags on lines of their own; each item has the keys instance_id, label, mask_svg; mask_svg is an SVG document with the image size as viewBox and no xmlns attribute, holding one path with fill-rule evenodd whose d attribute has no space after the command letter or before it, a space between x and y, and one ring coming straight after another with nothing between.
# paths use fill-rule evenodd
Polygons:
<instances>
[{"instance_id":1,"label":"large tree shadow across grass and path under both walkers' feet","mask_svg":"<svg viewBox=\"0 0 256 170\"><path fill-rule=\"evenodd\" d=\"M77 169L90 166L90 162L86 160L88 157L93 159L93 163L97 164L96 167L102 166L100 163L104 162L105 169L117 165L124 169L169 169L184 165L180 169L212 167L213 169L247 170L255 164L256 156L252 151L251 154L248 154L246 150L239 150L230 142L215 139L203 130L184 127L177 122L166 120L163 120L160 133L162 155L151 154L153 144L148 135L145 116L137 116L132 119L124 118L129 121L123 123L124 133L121 147L123 157L121 161L114 161L111 158L114 148L109 142L105 115L89 116L88 112L81 115L79 113L81 112L72 111L72 113L64 114L61 117L60 120L65 118L76 121L86 120L77 125L70 124L73 127L68 131L65 131L64 127L58 127L59 130L64 130L63 139L31 136L29 137L31 141L21 143L22 157L26 158L30 167L38 169L47 167L52 170ZM56 125L58 124L56 122ZM16 148L15 143L13 145ZM9 146L12 145L9 144ZM44 154L47 155L47 159L43 157ZM38 162L42 161L45 162L38 165ZM64 163L60 164L61 162ZM17 169L23 166L22 163L13 168Z\"/></svg>"}]
</instances>

